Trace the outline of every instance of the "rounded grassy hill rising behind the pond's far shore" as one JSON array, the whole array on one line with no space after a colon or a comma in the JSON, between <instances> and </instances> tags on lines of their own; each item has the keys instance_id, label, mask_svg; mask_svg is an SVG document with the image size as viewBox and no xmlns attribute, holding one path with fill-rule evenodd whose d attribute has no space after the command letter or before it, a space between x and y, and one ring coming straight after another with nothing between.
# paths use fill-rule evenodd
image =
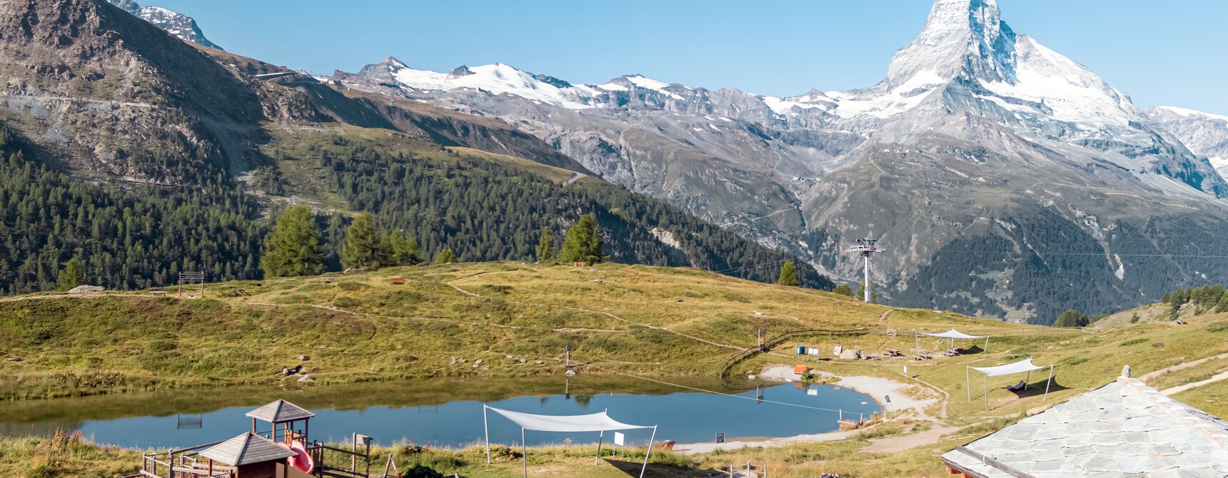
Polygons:
<instances>
[{"instance_id":1,"label":"rounded grassy hill rising behind the pond's far shore","mask_svg":"<svg viewBox=\"0 0 1228 478\"><path fill-rule=\"evenodd\" d=\"M576 360L604 369L715 376L758 327L877 327L889 310L690 268L519 262L227 282L205 297L0 299L0 353L22 358L0 362L0 397L293 387L297 377L276 373L298 355L316 384L550 375L562 373L569 343ZM932 327L1028 328L910 314Z\"/></svg>"}]
</instances>

